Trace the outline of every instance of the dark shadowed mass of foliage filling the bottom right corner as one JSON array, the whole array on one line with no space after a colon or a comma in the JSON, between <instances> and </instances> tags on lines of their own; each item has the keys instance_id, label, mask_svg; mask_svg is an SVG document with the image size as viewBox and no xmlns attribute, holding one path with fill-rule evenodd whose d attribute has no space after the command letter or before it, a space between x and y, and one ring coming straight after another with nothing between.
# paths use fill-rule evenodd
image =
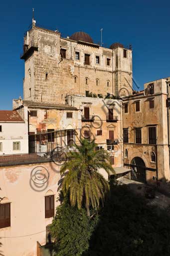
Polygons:
<instances>
[{"instance_id":1,"label":"dark shadowed mass of foliage filling the bottom right corner","mask_svg":"<svg viewBox=\"0 0 170 256\"><path fill-rule=\"evenodd\" d=\"M133 184L131 184L133 188ZM83 256L170 255L170 215L127 185L111 185Z\"/></svg>"}]
</instances>

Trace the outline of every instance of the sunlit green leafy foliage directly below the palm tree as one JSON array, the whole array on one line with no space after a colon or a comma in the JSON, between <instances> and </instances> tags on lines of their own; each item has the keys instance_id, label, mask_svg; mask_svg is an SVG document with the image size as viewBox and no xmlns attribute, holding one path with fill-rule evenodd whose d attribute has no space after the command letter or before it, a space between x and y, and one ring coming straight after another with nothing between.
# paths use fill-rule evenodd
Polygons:
<instances>
[{"instance_id":1,"label":"sunlit green leafy foliage directly below the palm tree","mask_svg":"<svg viewBox=\"0 0 170 256\"><path fill-rule=\"evenodd\" d=\"M89 240L98 216L89 218L85 209L72 207L68 201L57 207L51 225L57 256L80 256L89 247Z\"/></svg>"}]
</instances>

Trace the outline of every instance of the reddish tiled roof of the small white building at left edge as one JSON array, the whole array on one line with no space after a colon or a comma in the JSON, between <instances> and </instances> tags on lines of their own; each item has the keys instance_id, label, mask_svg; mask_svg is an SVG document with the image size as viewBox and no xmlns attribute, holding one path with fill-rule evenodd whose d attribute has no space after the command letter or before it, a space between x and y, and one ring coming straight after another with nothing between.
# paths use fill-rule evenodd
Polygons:
<instances>
[{"instance_id":1,"label":"reddish tiled roof of the small white building at left edge","mask_svg":"<svg viewBox=\"0 0 170 256\"><path fill-rule=\"evenodd\" d=\"M0 110L0 122L24 122L16 110Z\"/></svg>"}]
</instances>

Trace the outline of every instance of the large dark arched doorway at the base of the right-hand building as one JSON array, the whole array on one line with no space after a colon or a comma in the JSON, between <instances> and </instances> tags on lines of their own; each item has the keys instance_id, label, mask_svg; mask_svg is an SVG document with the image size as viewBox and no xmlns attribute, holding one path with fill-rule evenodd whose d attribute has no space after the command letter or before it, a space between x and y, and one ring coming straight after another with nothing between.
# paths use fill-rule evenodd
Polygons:
<instances>
[{"instance_id":1,"label":"large dark arched doorway at the base of the right-hand building","mask_svg":"<svg viewBox=\"0 0 170 256\"><path fill-rule=\"evenodd\" d=\"M134 157L131 161L131 179L146 183L146 166L141 157Z\"/></svg>"}]
</instances>

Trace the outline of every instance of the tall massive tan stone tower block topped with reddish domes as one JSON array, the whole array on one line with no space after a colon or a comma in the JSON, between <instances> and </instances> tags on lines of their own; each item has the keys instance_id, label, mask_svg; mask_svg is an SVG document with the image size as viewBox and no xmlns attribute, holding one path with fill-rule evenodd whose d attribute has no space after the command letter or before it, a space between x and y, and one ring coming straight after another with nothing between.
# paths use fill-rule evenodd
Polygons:
<instances>
[{"instance_id":1,"label":"tall massive tan stone tower block topped with reddish domes","mask_svg":"<svg viewBox=\"0 0 170 256\"><path fill-rule=\"evenodd\" d=\"M67 38L35 26L25 33L25 100L63 102L66 94L132 93L132 50L120 43L101 47L85 32Z\"/></svg>"}]
</instances>

